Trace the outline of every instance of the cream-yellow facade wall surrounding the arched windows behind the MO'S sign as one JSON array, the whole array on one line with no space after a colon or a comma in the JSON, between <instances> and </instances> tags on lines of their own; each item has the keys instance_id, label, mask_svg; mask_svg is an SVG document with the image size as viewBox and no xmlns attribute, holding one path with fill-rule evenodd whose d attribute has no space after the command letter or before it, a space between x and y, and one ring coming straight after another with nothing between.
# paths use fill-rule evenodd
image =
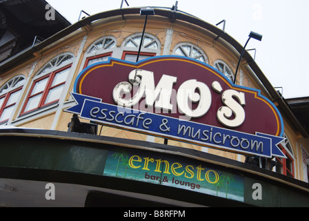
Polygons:
<instances>
[{"instance_id":1,"label":"cream-yellow facade wall surrounding the arched windows behind the MO'S sign","mask_svg":"<svg viewBox=\"0 0 309 221\"><path fill-rule=\"evenodd\" d=\"M66 113L63 110L74 105L70 92L74 86L74 80L77 75L83 70L88 58L95 55L106 55L112 53L112 57L117 59L123 58L123 52L137 52L138 48L126 47L126 43L130 37L140 35L143 30L143 23L145 17L140 15L126 15L125 19L121 15L105 17L103 19L94 20L87 26L83 26L77 30L70 32L66 37L54 41L54 43L46 46L42 50L34 53L33 59L25 59L14 66L11 66L4 73L1 73L0 88L8 83L11 79L17 76L23 76L23 88L18 97L17 103L14 105L13 111L10 113L10 118L5 122L0 123L0 126L17 126L25 128L39 128L44 130L68 131L68 123L72 114ZM227 41L207 30L190 23L190 21L173 21L171 18L163 16L148 17L146 26L146 37L150 37L157 42L157 48L142 48L141 52L153 53L158 55L175 55L177 47L194 46L206 57L206 63L214 66L216 61L223 61L226 66L230 68L232 73L235 73L237 62L239 59L239 52L235 50ZM89 52L89 49L99 39L112 38L115 45L112 48L101 48L97 52ZM23 114L23 108L26 104L29 93L32 90L34 80L37 74L44 68L49 61L52 61L59 55L70 53L73 59L68 62L71 64L68 78L63 86L62 93L59 97L59 102L55 102L48 106L30 111ZM270 96L268 90L260 83L257 75L248 67L247 61L243 59L239 75L237 75L237 84L249 88L257 88L261 90L262 95L274 101ZM61 64L67 65L67 64ZM57 68L61 68L61 65ZM55 68L55 70L57 69ZM102 82L103 84L103 82ZM12 88L16 89L16 88ZM0 93L0 97L5 93ZM274 101L278 106L279 111L281 107L277 101ZM306 171L306 160L304 153L309 153L308 137L304 137L292 124L292 120L285 113L283 116L284 128L286 137L290 142L290 150L287 150L292 158L292 173L298 180L308 182L308 172ZM163 138L152 137L132 131L123 131L117 128L108 126L99 126L101 135L110 137L121 137L132 140L147 140L150 142L158 142L163 144ZM185 148L193 148L199 151L206 151L215 155L228 157L232 160L240 162L245 161L245 156L225 151L218 151L212 148L196 146L179 141L168 141L169 145L181 146ZM277 171L279 172L279 171Z\"/></svg>"}]
</instances>

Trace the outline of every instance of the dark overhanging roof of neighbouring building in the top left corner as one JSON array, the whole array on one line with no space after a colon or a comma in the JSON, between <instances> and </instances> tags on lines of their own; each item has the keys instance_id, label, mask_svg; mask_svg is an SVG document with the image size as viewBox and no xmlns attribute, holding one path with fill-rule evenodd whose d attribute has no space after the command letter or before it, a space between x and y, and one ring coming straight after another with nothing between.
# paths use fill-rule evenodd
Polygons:
<instances>
[{"instance_id":1,"label":"dark overhanging roof of neighbouring building in the top left corner","mask_svg":"<svg viewBox=\"0 0 309 221\"><path fill-rule=\"evenodd\" d=\"M50 9L46 1L0 1L1 62L71 25L57 11L46 19L50 17L46 8Z\"/></svg>"}]
</instances>

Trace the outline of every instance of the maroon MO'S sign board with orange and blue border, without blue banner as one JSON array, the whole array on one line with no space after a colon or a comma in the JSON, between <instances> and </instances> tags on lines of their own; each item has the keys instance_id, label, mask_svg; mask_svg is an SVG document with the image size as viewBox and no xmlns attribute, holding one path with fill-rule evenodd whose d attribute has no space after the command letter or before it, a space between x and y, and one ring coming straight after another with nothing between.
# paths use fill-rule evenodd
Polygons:
<instances>
[{"instance_id":1,"label":"maroon MO'S sign board with orange and blue border, without blue banner","mask_svg":"<svg viewBox=\"0 0 309 221\"><path fill-rule=\"evenodd\" d=\"M85 68L74 92L243 133L283 134L279 111L260 90L236 86L218 70L186 57L154 57L136 64L111 58Z\"/></svg>"}]
</instances>

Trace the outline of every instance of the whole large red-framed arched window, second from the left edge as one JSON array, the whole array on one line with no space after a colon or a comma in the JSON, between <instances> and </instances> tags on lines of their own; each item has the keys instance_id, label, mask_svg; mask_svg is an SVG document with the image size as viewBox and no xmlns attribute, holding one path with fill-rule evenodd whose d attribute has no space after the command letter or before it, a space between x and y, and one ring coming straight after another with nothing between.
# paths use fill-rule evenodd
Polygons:
<instances>
[{"instance_id":1,"label":"whole large red-framed arched window, second from the left edge","mask_svg":"<svg viewBox=\"0 0 309 221\"><path fill-rule=\"evenodd\" d=\"M35 111L59 101L74 55L66 53L54 57L34 77L21 113Z\"/></svg>"}]
</instances>

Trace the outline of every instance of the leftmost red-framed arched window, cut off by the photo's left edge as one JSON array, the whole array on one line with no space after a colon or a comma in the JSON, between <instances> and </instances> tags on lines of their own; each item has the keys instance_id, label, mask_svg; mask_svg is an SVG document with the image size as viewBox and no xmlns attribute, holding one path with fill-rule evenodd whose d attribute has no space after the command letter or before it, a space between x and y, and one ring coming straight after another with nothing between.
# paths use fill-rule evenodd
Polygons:
<instances>
[{"instance_id":1,"label":"leftmost red-framed arched window, cut off by the photo's left edge","mask_svg":"<svg viewBox=\"0 0 309 221\"><path fill-rule=\"evenodd\" d=\"M19 75L10 79L0 88L0 124L10 119L15 104L19 99L21 89L26 79Z\"/></svg>"}]
</instances>

